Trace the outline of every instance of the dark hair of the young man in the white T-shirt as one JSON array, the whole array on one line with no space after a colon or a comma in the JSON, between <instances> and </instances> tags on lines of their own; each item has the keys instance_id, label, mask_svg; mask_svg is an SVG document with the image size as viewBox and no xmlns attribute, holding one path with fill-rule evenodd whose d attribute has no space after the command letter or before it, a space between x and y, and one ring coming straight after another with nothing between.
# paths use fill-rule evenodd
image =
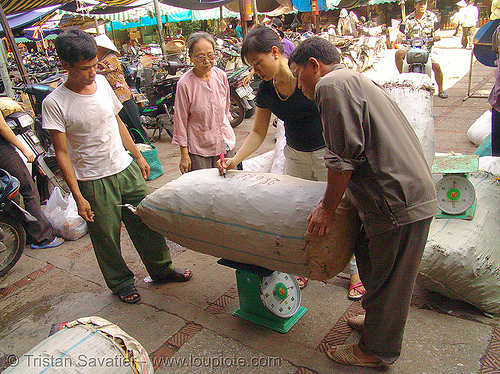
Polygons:
<instances>
[{"instance_id":1,"label":"dark hair of the young man in the white T-shirt","mask_svg":"<svg viewBox=\"0 0 500 374\"><path fill-rule=\"evenodd\" d=\"M54 43L59 59L70 65L92 60L97 56L97 44L94 38L82 30L70 30L59 34Z\"/></svg>"}]
</instances>

